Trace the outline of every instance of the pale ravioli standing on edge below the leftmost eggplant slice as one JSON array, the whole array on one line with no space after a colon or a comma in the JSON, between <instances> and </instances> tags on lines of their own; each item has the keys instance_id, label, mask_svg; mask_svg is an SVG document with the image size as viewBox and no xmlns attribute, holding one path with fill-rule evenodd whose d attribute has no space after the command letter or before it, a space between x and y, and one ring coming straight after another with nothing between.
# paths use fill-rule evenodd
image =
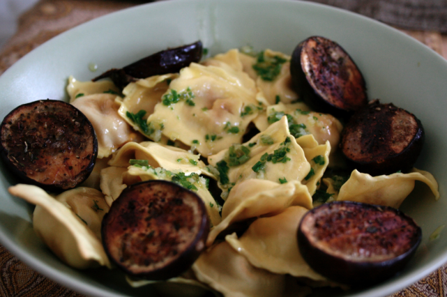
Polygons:
<instances>
[{"instance_id":1,"label":"pale ravioli standing on edge below the leftmost eggplant slice","mask_svg":"<svg viewBox=\"0 0 447 297\"><path fill-rule=\"evenodd\" d=\"M84 210L82 210L84 218L80 218L80 215L73 211L73 206L68 208L66 204L57 198L54 199L35 185L19 184L10 187L8 191L11 195L36 205L33 213L34 231L61 261L79 269L98 266L111 268L100 238L88 226L89 222L95 220L87 218ZM62 195L70 196L73 192L79 194L77 189L70 191ZM98 201L100 199L100 195L96 193L93 193L93 197ZM63 198L63 201L66 199L67 197ZM93 201L90 202L89 206L93 206ZM101 206L104 206L103 203Z\"/></svg>"}]
</instances>

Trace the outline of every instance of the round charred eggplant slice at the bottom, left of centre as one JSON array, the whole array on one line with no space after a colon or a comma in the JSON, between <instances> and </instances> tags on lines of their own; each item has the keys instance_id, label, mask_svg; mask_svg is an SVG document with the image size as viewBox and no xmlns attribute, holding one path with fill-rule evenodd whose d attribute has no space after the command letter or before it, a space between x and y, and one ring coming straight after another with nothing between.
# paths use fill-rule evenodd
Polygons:
<instances>
[{"instance_id":1,"label":"round charred eggplant slice at the bottom, left of centre","mask_svg":"<svg viewBox=\"0 0 447 297\"><path fill-rule=\"evenodd\" d=\"M116 266L136 277L167 280L204 250L209 219L194 192L169 181L145 181L123 190L101 232Z\"/></svg>"}]
</instances>

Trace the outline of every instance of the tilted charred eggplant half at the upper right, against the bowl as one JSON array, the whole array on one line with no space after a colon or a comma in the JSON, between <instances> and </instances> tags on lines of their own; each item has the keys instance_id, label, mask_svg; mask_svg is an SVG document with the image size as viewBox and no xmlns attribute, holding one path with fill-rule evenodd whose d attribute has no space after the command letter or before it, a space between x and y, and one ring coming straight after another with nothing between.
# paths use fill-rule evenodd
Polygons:
<instances>
[{"instance_id":1,"label":"tilted charred eggplant half at the upper right, against the bowl","mask_svg":"<svg viewBox=\"0 0 447 297\"><path fill-rule=\"evenodd\" d=\"M348 116L367 105L365 79L340 45L321 36L299 43L290 62L296 93L317 112Z\"/></svg>"}]
</instances>

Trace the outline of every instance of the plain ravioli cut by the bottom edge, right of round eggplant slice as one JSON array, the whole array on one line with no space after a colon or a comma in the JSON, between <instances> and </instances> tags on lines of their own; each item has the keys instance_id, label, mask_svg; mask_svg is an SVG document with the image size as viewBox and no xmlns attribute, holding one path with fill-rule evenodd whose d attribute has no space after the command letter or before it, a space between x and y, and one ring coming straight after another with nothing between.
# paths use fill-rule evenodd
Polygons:
<instances>
[{"instance_id":1,"label":"plain ravioli cut by the bottom edge, right of round eggplant slice","mask_svg":"<svg viewBox=\"0 0 447 297\"><path fill-rule=\"evenodd\" d=\"M284 275L253 267L226 242L203 252L192 271L225 297L278 297L285 291Z\"/></svg>"}]
</instances>

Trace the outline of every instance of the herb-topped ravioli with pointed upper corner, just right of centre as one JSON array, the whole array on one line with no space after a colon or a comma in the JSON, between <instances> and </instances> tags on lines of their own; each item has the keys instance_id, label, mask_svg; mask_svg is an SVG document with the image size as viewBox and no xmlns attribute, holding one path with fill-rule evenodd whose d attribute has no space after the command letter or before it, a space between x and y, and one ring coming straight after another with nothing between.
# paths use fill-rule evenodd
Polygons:
<instances>
[{"instance_id":1,"label":"herb-topped ravioli with pointed upper corner, just right of centre","mask_svg":"<svg viewBox=\"0 0 447 297\"><path fill-rule=\"evenodd\" d=\"M208 158L209 164L220 171L222 167L227 167L225 179L222 179L224 174L220 174L219 186L222 190L249 178L261 178L277 183L301 181L308 184L310 195L313 195L319 178L328 166L331 151L328 142L319 145L312 135L303 139L292 137L285 116L243 146L233 146L235 151L245 151L243 161L238 158L237 151L232 153L231 147Z\"/></svg>"}]
</instances>

